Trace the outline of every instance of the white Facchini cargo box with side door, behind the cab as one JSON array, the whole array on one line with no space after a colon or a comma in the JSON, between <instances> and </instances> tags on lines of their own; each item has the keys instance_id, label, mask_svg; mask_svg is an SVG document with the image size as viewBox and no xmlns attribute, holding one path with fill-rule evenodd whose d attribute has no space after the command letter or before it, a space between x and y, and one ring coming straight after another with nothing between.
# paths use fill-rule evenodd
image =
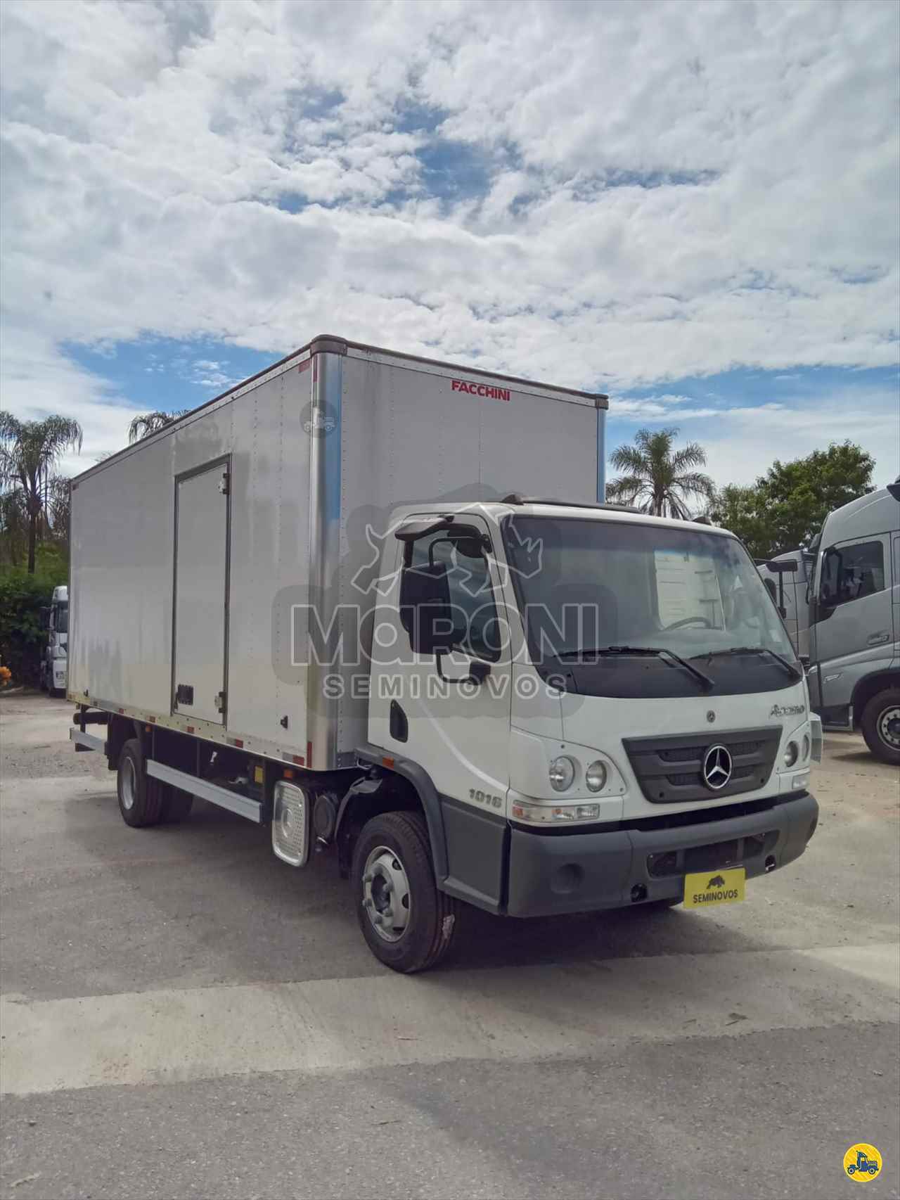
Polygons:
<instances>
[{"instance_id":1,"label":"white Facchini cargo box with side door, behind the cab","mask_svg":"<svg viewBox=\"0 0 900 1200\"><path fill-rule=\"evenodd\" d=\"M316 338L73 481L70 697L350 766L366 697L329 698L328 677L366 659L370 626L347 612L377 598L391 510L514 491L594 503L605 408ZM336 665L313 653L311 619L344 638Z\"/></svg>"}]
</instances>

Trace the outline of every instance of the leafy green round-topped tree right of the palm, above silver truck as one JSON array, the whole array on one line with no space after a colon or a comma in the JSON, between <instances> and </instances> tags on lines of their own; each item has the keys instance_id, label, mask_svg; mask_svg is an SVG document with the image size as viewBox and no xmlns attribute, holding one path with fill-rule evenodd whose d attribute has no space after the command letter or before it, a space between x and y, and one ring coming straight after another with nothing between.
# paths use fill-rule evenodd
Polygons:
<instances>
[{"instance_id":1,"label":"leafy green round-topped tree right of the palm, above silver truck","mask_svg":"<svg viewBox=\"0 0 900 1200\"><path fill-rule=\"evenodd\" d=\"M708 516L744 541L754 558L808 545L833 509L874 491L875 462L852 442L794 462L775 462L751 487L716 493Z\"/></svg>"}]
</instances>

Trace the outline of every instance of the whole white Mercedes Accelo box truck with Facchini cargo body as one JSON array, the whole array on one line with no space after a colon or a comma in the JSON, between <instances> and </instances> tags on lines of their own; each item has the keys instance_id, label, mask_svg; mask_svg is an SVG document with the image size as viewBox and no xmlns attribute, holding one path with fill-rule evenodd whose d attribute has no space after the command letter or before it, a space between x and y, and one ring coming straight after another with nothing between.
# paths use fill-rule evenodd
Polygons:
<instances>
[{"instance_id":1,"label":"whole white Mercedes Accelo box truck with Facchini cargo body","mask_svg":"<svg viewBox=\"0 0 900 1200\"><path fill-rule=\"evenodd\" d=\"M404 972L467 904L708 906L803 853L778 610L727 532L602 503L606 407L322 336L79 475L72 739L125 821L331 853Z\"/></svg>"}]
</instances>

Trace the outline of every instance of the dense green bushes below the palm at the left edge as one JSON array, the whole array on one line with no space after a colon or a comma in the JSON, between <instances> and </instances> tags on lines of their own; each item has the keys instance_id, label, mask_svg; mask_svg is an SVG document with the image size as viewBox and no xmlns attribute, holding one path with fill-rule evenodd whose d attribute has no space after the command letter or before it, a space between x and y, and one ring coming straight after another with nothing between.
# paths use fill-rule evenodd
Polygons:
<instances>
[{"instance_id":1,"label":"dense green bushes below the palm at the left edge","mask_svg":"<svg viewBox=\"0 0 900 1200\"><path fill-rule=\"evenodd\" d=\"M0 661L12 671L13 683L37 684L47 643L41 608L67 578L67 554L52 542L37 547L34 572L20 566L0 570Z\"/></svg>"}]
</instances>

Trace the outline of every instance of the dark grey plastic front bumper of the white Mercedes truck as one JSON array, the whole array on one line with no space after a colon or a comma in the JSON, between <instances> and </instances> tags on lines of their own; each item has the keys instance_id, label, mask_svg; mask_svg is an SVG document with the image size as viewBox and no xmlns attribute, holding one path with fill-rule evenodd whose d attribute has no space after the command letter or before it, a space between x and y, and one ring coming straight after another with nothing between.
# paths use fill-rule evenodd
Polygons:
<instances>
[{"instance_id":1,"label":"dark grey plastic front bumper of the white Mercedes truck","mask_svg":"<svg viewBox=\"0 0 900 1200\"><path fill-rule=\"evenodd\" d=\"M804 792L762 811L671 828L552 835L514 826L506 912L544 917L678 898L688 871L744 866L752 878L799 858L817 820L818 804Z\"/></svg>"}]
</instances>

